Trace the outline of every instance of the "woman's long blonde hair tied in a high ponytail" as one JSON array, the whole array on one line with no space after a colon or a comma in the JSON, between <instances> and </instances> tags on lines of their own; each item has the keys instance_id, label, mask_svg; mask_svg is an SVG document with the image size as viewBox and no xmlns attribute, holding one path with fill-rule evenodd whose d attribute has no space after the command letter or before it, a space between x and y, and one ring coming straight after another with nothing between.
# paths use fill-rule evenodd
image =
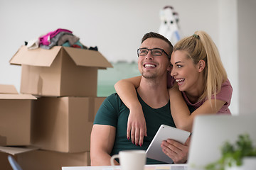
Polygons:
<instances>
[{"instance_id":1,"label":"woman's long blonde hair tied in a high ponytail","mask_svg":"<svg viewBox=\"0 0 256 170\"><path fill-rule=\"evenodd\" d=\"M205 77L203 86L205 88L198 101L202 101L205 98L211 100L212 95L216 100L216 94L220 92L221 85L228 79L228 76L220 60L218 48L210 38L210 35L202 30L196 31L190 37L178 41L174 45L174 51L176 50L186 51L194 64L197 64L200 60L206 62L206 67L203 71Z\"/></svg>"}]
</instances>

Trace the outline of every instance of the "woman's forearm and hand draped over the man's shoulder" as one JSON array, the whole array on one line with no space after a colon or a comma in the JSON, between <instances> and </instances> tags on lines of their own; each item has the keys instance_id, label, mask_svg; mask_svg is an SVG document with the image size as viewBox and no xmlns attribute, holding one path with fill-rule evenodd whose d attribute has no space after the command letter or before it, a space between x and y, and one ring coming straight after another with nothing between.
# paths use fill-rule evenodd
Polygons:
<instances>
[{"instance_id":1,"label":"woman's forearm and hand draped over the man's shoulder","mask_svg":"<svg viewBox=\"0 0 256 170\"><path fill-rule=\"evenodd\" d=\"M117 94L130 111L127 123L127 139L131 139L132 143L140 146L143 144L144 136L146 136L146 121L136 92L141 79L142 77L132 77L122 79L114 84Z\"/></svg>"}]
</instances>

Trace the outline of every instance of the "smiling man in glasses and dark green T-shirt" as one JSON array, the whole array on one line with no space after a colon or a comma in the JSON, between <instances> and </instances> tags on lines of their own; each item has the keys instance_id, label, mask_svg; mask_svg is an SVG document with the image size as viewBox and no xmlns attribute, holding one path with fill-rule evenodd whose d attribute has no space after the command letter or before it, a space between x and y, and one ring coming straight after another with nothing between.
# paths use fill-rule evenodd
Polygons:
<instances>
[{"instance_id":1,"label":"smiling man in glasses and dark green T-shirt","mask_svg":"<svg viewBox=\"0 0 256 170\"><path fill-rule=\"evenodd\" d=\"M158 33L146 33L138 49L138 67L142 74L137 96L146 120L147 136L141 143L127 139L129 109L117 94L108 96L100 106L91 133L91 165L110 165L110 158L121 150L149 147L161 124L175 127L171 117L169 94L166 86L167 71L170 69L171 42ZM171 156L174 163L184 163L188 146L176 142L178 157ZM179 154L180 153L180 154ZM170 157L170 156L169 156ZM147 159L146 164L161 164ZM116 164L118 164L116 162Z\"/></svg>"}]
</instances>

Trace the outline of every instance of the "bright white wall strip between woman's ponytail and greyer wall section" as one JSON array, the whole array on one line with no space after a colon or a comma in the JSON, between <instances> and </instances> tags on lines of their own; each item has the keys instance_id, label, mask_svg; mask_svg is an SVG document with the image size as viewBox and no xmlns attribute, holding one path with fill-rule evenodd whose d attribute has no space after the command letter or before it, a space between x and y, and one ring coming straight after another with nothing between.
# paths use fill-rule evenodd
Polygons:
<instances>
[{"instance_id":1,"label":"bright white wall strip between woman's ponytail and greyer wall section","mask_svg":"<svg viewBox=\"0 0 256 170\"><path fill-rule=\"evenodd\" d=\"M230 104L232 113L239 111L238 100L238 3L234 0L219 0L219 52L223 65L228 73L228 79L233 86L233 96Z\"/></svg>"}]
</instances>

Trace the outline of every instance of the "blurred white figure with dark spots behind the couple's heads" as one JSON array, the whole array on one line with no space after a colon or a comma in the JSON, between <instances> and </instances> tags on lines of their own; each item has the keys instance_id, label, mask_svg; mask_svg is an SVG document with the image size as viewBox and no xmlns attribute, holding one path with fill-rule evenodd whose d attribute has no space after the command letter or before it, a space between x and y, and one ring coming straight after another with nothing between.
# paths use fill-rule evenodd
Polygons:
<instances>
[{"instance_id":1,"label":"blurred white figure with dark spots behind the couple's heads","mask_svg":"<svg viewBox=\"0 0 256 170\"><path fill-rule=\"evenodd\" d=\"M173 45L181 39L181 30L178 26L178 13L172 6L165 6L160 11L159 34L164 35Z\"/></svg>"}]
</instances>

